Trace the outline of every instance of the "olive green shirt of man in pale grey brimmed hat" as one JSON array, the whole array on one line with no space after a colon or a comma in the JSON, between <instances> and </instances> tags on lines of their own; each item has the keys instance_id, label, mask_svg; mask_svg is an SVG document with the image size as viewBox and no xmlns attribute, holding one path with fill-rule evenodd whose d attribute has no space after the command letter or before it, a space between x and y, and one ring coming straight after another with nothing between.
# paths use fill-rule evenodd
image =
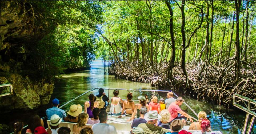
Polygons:
<instances>
[{"instance_id":1,"label":"olive green shirt of man in pale grey brimmed hat","mask_svg":"<svg viewBox=\"0 0 256 134\"><path fill-rule=\"evenodd\" d=\"M171 132L168 129L158 127L149 123L141 123L138 125L138 127L142 128L145 134L165 134L167 132Z\"/></svg>"}]
</instances>

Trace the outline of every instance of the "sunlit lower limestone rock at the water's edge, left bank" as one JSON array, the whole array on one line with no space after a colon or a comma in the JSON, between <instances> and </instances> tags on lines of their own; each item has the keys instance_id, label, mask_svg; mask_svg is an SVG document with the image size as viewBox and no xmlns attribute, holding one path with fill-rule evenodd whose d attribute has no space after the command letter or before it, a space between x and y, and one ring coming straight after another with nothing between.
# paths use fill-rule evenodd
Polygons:
<instances>
[{"instance_id":1,"label":"sunlit lower limestone rock at the water's edge, left bank","mask_svg":"<svg viewBox=\"0 0 256 134\"><path fill-rule=\"evenodd\" d=\"M3 82L3 83L2 83ZM13 95L0 97L2 109L34 109L41 104L47 104L53 93L53 84L34 83L27 77L8 73L0 77L0 84L12 83Z\"/></svg>"}]
</instances>

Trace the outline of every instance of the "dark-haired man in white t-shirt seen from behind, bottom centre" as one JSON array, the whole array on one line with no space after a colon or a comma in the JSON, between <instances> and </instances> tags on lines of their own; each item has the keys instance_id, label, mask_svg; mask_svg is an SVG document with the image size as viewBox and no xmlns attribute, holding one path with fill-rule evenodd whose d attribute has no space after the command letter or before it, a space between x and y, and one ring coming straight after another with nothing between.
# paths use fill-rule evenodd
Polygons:
<instances>
[{"instance_id":1,"label":"dark-haired man in white t-shirt seen from behind, bottom centre","mask_svg":"<svg viewBox=\"0 0 256 134\"><path fill-rule=\"evenodd\" d=\"M99 112L99 121L100 123L94 124L92 129L94 134L117 134L117 129L115 126L107 124L107 112Z\"/></svg>"}]
</instances>

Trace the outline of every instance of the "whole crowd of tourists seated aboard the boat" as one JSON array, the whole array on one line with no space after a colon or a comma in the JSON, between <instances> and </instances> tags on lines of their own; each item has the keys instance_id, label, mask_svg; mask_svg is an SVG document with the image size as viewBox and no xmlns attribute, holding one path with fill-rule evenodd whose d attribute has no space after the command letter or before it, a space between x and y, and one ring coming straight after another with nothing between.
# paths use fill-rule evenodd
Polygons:
<instances>
[{"instance_id":1,"label":"whole crowd of tourists seated aboard the boat","mask_svg":"<svg viewBox=\"0 0 256 134\"><path fill-rule=\"evenodd\" d=\"M158 103L158 97L139 96L139 103L132 101L132 93L127 94L127 100L122 100L119 90L114 90L114 97L111 98L110 113L122 118L122 115L130 116L131 134L186 134L186 130L181 130L190 120L192 124L189 130L198 130L198 133L216 133L211 131L210 121L204 111L198 113L199 122L193 122L190 115L181 110L180 106L184 102L182 97L174 98L172 92L167 93L167 99L161 98ZM150 100L150 101L149 101ZM106 112L106 102L109 98L105 95L103 89L99 89L99 94L89 95L89 101L84 103L84 112L80 104L70 106L67 115L64 110L59 109L59 100L52 100L52 108L46 110L48 120L50 120L50 128L44 128L43 120L38 115L32 115L29 118L26 133L32 134L69 134L71 130L68 127L59 127L61 122L76 123L72 126L74 134L116 134L116 128L107 124L108 114ZM122 104L122 105L121 105ZM93 125L88 126L88 124ZM23 123L15 122L14 132L21 133ZM70 126L71 127L71 126Z\"/></svg>"}]
</instances>

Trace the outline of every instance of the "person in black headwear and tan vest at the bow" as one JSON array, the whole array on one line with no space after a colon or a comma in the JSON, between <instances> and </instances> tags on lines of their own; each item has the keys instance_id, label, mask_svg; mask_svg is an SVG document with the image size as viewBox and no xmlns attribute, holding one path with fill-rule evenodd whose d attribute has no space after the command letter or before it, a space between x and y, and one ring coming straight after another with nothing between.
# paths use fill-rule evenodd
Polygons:
<instances>
[{"instance_id":1,"label":"person in black headwear and tan vest at the bow","mask_svg":"<svg viewBox=\"0 0 256 134\"><path fill-rule=\"evenodd\" d=\"M105 95L103 88L99 89L99 94L95 96L94 101L99 103L99 109L106 110L106 101L109 102L109 98Z\"/></svg>"}]
</instances>

